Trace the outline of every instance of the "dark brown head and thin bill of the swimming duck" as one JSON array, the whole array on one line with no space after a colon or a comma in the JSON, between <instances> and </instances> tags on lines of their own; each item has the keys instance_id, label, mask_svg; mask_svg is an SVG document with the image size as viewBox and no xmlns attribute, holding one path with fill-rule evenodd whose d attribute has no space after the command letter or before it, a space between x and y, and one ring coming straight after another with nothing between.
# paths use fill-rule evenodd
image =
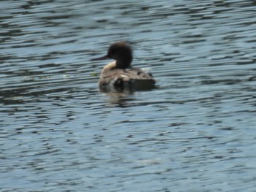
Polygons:
<instances>
[{"instance_id":1,"label":"dark brown head and thin bill of the swimming duck","mask_svg":"<svg viewBox=\"0 0 256 192\"><path fill-rule=\"evenodd\" d=\"M116 42L110 45L107 55L101 58L94 58L93 61L106 58L115 59L117 69L126 69L132 63L132 48L127 42Z\"/></svg>"}]
</instances>

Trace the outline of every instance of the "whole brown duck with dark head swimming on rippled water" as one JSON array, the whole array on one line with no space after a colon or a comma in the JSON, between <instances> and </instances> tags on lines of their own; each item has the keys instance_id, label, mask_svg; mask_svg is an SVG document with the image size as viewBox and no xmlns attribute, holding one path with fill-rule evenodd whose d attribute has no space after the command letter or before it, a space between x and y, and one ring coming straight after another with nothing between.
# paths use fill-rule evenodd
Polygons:
<instances>
[{"instance_id":1,"label":"whole brown duck with dark head swimming on rippled water","mask_svg":"<svg viewBox=\"0 0 256 192\"><path fill-rule=\"evenodd\" d=\"M108 48L107 55L93 58L92 61L113 59L103 67L99 77L99 90L143 91L155 87L156 80L150 72L132 67L132 47L129 43L115 42Z\"/></svg>"}]
</instances>

